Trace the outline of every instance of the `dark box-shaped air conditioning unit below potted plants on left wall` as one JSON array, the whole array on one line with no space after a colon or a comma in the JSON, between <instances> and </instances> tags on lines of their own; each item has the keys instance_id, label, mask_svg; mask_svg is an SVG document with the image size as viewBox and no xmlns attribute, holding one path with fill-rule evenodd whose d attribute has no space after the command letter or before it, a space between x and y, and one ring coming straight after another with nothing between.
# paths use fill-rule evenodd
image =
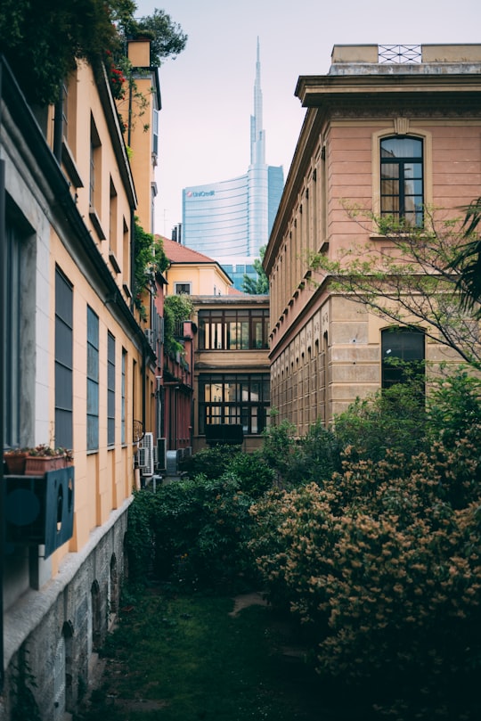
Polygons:
<instances>
[{"instance_id":1,"label":"dark box-shaped air conditioning unit below potted plants on left wall","mask_svg":"<svg viewBox=\"0 0 481 721\"><path fill-rule=\"evenodd\" d=\"M4 479L7 553L17 545L44 545L48 558L72 537L74 485L73 466Z\"/></svg>"}]
</instances>

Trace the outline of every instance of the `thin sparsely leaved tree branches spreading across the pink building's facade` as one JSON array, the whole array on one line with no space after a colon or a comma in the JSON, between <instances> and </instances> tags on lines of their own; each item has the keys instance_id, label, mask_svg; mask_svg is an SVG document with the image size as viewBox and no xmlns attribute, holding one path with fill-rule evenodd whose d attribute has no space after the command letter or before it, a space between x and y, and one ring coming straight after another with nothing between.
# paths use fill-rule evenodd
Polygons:
<instances>
[{"instance_id":1,"label":"thin sparsely leaved tree branches spreading across the pink building's facade","mask_svg":"<svg viewBox=\"0 0 481 721\"><path fill-rule=\"evenodd\" d=\"M479 324L467 312L460 289L467 263L460 256L465 237L461 219L440 219L435 210L426 209L425 227L415 228L363 209L346 211L370 234L374 222L379 237L339 250L334 259L311 255L316 283L329 284L331 291L395 324L422 328L428 338L481 367Z\"/></svg>"}]
</instances>

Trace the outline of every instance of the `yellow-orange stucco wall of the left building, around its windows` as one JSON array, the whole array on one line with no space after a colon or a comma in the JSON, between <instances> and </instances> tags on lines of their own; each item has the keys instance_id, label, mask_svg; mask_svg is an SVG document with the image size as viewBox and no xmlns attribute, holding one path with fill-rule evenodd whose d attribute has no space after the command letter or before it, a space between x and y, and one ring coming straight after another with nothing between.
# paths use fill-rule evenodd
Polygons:
<instances>
[{"instance_id":1,"label":"yellow-orange stucco wall of the left building, around its windows","mask_svg":"<svg viewBox=\"0 0 481 721\"><path fill-rule=\"evenodd\" d=\"M130 237L133 182L128 163L119 168L119 150L114 150L111 141L111 125L105 118L104 109L97 93L94 77L85 63L81 63L77 73L71 78L75 83L75 92L69 104L70 128L69 152L75 162L78 179L72 184L77 207L84 217L91 236L102 255L105 265L115 279L118 289L128 305L130 298L124 286L130 283ZM75 101L75 102L74 102ZM102 232L92 222L90 212L91 153L90 142L93 132L101 148L101 155L95 167L95 184L100 185L95 195L95 211ZM143 136L139 136L141 141ZM120 135L118 134L118 139ZM65 139L66 140L66 139ZM123 141L122 141L123 143ZM118 143L120 152L125 153L122 143ZM122 157L122 154L120 155ZM125 153L126 161L126 153ZM67 168L66 168L67 172ZM135 189L138 196L150 198L151 178L147 173L139 176ZM112 191L115 188L115 201ZM140 188L140 191L138 190ZM135 196L134 196L135 197ZM111 262L114 251L118 263L116 268ZM134 450L132 429L134 419L142 418L142 369L143 355L139 338L135 338L132 328L118 313L115 303L105 298L102 287L95 287L92 275L85 259L69 247L69 237L62 242L61 234L52 230L50 245L50 263L48 268L49 284L55 287L55 269L58 267L73 288L73 452L76 472L74 534L68 544L53 554L53 574L59 568L61 558L69 551L79 551L86 545L92 530L102 526L112 510L118 509L131 495L134 485ZM86 448L86 315L91 307L99 317L99 447L95 451ZM138 316L137 316L138 317ZM51 293L49 308L50 336L54 339L55 294ZM115 444L107 442L107 340L108 334L115 338ZM139 328L139 333L142 329ZM121 367L122 356L126 357L126 442L121 442ZM54 345L50 344L49 361L49 416L54 429ZM147 381L147 387L150 384ZM48 441L48 439L45 439Z\"/></svg>"}]
</instances>

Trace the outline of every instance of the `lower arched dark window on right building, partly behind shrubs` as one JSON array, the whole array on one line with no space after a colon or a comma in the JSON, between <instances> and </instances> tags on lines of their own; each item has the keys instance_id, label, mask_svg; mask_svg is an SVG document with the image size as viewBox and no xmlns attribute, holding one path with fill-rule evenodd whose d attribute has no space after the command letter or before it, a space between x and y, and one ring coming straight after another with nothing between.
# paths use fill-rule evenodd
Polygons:
<instances>
[{"instance_id":1,"label":"lower arched dark window on right building, partly behind shrubs","mask_svg":"<svg viewBox=\"0 0 481 721\"><path fill-rule=\"evenodd\" d=\"M424 343L424 333L415 328L382 331L382 388L424 375Z\"/></svg>"}]
</instances>

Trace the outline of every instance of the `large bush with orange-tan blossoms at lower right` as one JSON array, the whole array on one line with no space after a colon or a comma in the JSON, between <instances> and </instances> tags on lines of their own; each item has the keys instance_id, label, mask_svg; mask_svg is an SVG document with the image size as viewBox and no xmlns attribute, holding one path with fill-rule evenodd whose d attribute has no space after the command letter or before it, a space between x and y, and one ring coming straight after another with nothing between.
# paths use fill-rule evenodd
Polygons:
<instances>
[{"instance_id":1,"label":"large bush with orange-tan blossoms at lower right","mask_svg":"<svg viewBox=\"0 0 481 721\"><path fill-rule=\"evenodd\" d=\"M250 548L273 600L311 627L318 672L370 687L399 719L469 718L481 666L480 443L476 425L414 458L346 455L322 486L251 511Z\"/></svg>"}]
</instances>

